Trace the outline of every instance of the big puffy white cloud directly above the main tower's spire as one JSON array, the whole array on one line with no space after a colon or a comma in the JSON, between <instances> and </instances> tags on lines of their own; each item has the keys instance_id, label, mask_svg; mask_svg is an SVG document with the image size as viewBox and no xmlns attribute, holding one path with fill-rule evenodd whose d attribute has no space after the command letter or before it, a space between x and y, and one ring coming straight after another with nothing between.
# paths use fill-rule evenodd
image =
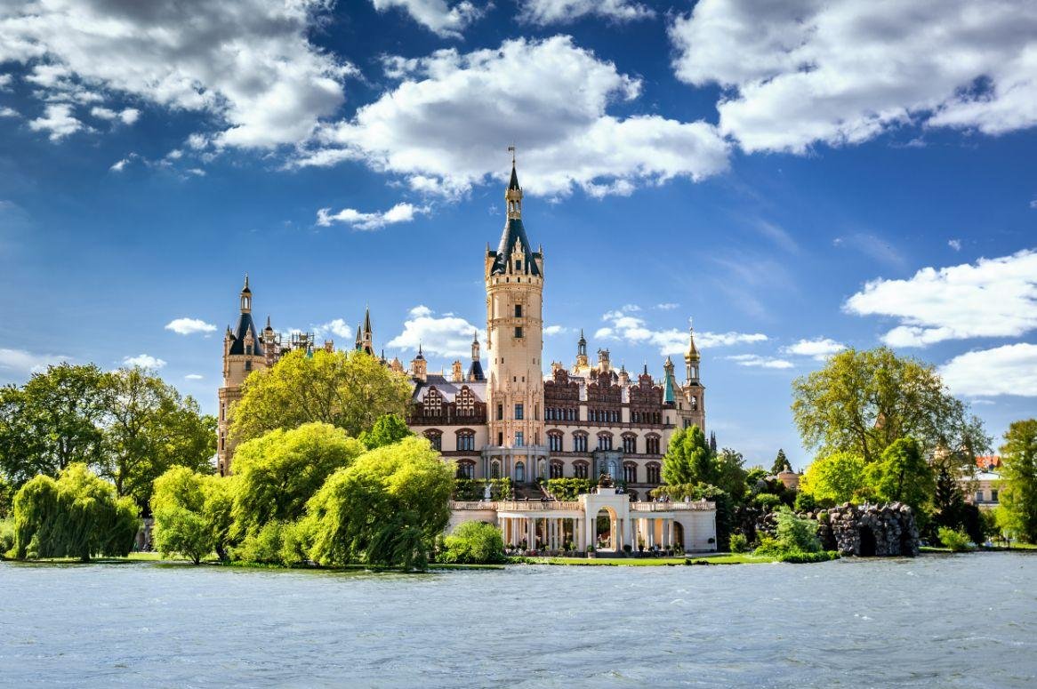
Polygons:
<instances>
[{"instance_id":1,"label":"big puffy white cloud directly above the main tower's spire","mask_svg":"<svg viewBox=\"0 0 1037 689\"><path fill-rule=\"evenodd\" d=\"M704 121L608 114L615 102L628 108L641 82L569 36L387 62L401 83L352 120L323 126L295 165L361 160L414 190L453 196L505 178L506 135L531 194L633 190L727 168L728 144Z\"/></svg>"}]
</instances>

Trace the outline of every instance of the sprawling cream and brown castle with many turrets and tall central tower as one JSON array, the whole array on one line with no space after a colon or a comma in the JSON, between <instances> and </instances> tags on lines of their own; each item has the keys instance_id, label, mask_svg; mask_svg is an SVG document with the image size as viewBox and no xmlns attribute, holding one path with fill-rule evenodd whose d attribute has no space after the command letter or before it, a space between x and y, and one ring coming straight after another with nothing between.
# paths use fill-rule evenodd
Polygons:
<instances>
[{"instance_id":1,"label":"sprawling cream and brown castle with many turrets and tall central tower","mask_svg":"<svg viewBox=\"0 0 1037 689\"><path fill-rule=\"evenodd\" d=\"M509 477L523 485L534 484L537 479L596 480L607 475L622 485L622 500L646 499L647 492L662 482L663 453L674 431L693 424L705 429L705 387L699 377L701 356L694 333L689 334L683 356L683 382L677 381L669 356L658 380L648 373L647 365L637 375L622 366L617 371L608 349L598 349L597 361L592 364L582 332L572 366L566 368L560 362L553 362L545 375L544 254L542 248L533 250L523 225L523 190L513 157L505 202L507 218L500 243L496 251L487 245L484 256L486 369L480 358L477 337L472 342L468 370L455 361L449 375L429 373L419 346L407 371L413 384L408 425L428 438L445 458L455 462L458 478ZM241 385L249 373L273 366L292 349L334 347L332 342L317 345L312 334L296 334L289 342L283 342L269 318L262 332L257 332L251 315L252 292L247 276L240 306L237 324L233 329L227 327L223 341L223 386L219 391L218 415L220 473L231 470L233 456L228 437L228 407L240 399ZM364 315L363 325L357 328L354 346L375 355L369 312ZM388 362L383 356L382 361L394 370L404 371L398 358ZM619 512L624 510L619 503L617 506ZM618 524L614 525L618 530L612 536L616 547L624 542L623 534L629 544L634 529L649 528L646 523L634 525L629 518L624 527L617 509L612 513L614 524ZM711 507L697 509L708 511L712 519ZM517 543L517 537L526 534L529 543L534 536L543 537L546 540L541 542L549 543L552 534L556 541L561 534L569 535L573 543L590 539L586 518L584 532L579 534L583 538L577 538L580 527L574 521L569 530L565 530L564 524L556 524L556 530L552 532L543 524L542 534L508 532L508 522L500 522L496 514L492 521L505 527L509 543ZM665 521L646 521L663 522L651 526L652 538L647 540L665 541ZM527 527L528 523L523 522L516 528ZM705 538L702 540L704 543Z\"/></svg>"}]
</instances>

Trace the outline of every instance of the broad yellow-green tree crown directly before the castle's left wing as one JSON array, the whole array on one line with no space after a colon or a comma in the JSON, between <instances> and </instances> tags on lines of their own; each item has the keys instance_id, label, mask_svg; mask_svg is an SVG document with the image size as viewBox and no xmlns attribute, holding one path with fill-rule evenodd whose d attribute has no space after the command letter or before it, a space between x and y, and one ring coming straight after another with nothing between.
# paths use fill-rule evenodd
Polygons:
<instances>
[{"instance_id":1,"label":"broad yellow-green tree crown directly before the castle's left wing","mask_svg":"<svg viewBox=\"0 0 1037 689\"><path fill-rule=\"evenodd\" d=\"M359 437L386 414L405 417L410 404L407 376L370 354L293 351L245 380L230 409L231 434L244 441L319 422Z\"/></svg>"}]
</instances>

